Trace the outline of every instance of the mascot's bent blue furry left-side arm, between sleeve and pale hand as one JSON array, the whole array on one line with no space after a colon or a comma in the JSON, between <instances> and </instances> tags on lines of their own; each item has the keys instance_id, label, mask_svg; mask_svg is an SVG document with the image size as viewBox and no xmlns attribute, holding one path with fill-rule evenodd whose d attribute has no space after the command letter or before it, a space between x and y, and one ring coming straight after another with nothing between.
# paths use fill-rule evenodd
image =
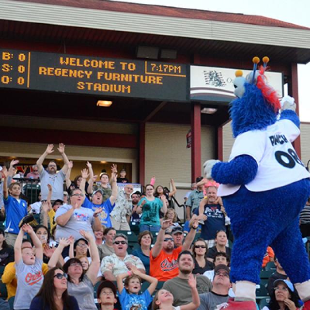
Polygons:
<instances>
[{"instance_id":1,"label":"mascot's bent blue furry left-side arm, between sleeve and pale hand","mask_svg":"<svg viewBox=\"0 0 310 310\"><path fill-rule=\"evenodd\" d=\"M212 178L220 184L248 184L255 178L257 170L257 162L252 156L240 155L230 162L216 163L212 168Z\"/></svg>"}]
</instances>

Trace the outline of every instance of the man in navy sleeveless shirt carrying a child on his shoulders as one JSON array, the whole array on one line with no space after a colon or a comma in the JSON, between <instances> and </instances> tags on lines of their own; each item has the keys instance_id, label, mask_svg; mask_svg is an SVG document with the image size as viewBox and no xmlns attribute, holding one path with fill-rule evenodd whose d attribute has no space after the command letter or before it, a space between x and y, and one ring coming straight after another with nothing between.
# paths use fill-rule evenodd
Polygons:
<instances>
[{"instance_id":1,"label":"man in navy sleeveless shirt carrying a child on his shoulders","mask_svg":"<svg viewBox=\"0 0 310 310\"><path fill-rule=\"evenodd\" d=\"M214 246L214 239L218 231L226 232L224 207L219 203L217 187L207 188L207 198L204 198L199 206L199 214L204 214L207 219L202 225L201 238L206 241L208 248Z\"/></svg>"}]
</instances>

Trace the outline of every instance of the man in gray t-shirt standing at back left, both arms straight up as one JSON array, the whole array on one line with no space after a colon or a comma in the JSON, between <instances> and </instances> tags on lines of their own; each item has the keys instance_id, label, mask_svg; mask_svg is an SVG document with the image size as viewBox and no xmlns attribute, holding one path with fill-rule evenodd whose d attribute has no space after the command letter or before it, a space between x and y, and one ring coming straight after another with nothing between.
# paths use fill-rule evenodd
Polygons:
<instances>
[{"instance_id":1,"label":"man in gray t-shirt standing at back left, both arms straight up","mask_svg":"<svg viewBox=\"0 0 310 310\"><path fill-rule=\"evenodd\" d=\"M53 153L54 145L48 144L46 151L40 156L37 160L37 166L40 173L40 181L41 181L41 194L42 200L47 200L48 188L47 184L52 186L52 197L51 200L63 200L63 181L65 179L66 172L68 170L69 160L67 155L64 153L65 145L60 143L57 148L59 153L62 155L64 165L62 170L57 173L57 165L54 160L51 160L47 165L47 170L45 171L42 164L45 160L46 156Z\"/></svg>"}]
</instances>

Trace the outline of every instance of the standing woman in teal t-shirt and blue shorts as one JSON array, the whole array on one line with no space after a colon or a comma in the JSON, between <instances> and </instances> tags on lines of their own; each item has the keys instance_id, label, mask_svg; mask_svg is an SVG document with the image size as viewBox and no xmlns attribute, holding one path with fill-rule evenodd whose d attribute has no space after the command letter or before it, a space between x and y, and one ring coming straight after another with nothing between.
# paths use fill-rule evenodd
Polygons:
<instances>
[{"instance_id":1,"label":"standing woman in teal t-shirt and blue shorts","mask_svg":"<svg viewBox=\"0 0 310 310\"><path fill-rule=\"evenodd\" d=\"M142 205L140 232L159 232L159 211L166 214L166 197L164 195L161 196L161 199L154 197L154 186L152 184L145 186L145 191L146 197L143 197L138 203L138 205Z\"/></svg>"}]
</instances>

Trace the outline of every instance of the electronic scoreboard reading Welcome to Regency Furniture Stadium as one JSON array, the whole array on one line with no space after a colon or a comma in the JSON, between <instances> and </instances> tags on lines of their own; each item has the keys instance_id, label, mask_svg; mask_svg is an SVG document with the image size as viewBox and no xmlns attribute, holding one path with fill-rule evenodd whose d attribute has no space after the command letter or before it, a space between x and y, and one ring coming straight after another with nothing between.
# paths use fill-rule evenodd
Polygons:
<instances>
[{"instance_id":1,"label":"electronic scoreboard reading Welcome to Regency Furniture Stadium","mask_svg":"<svg viewBox=\"0 0 310 310\"><path fill-rule=\"evenodd\" d=\"M0 87L188 101L187 65L0 49Z\"/></svg>"}]
</instances>

